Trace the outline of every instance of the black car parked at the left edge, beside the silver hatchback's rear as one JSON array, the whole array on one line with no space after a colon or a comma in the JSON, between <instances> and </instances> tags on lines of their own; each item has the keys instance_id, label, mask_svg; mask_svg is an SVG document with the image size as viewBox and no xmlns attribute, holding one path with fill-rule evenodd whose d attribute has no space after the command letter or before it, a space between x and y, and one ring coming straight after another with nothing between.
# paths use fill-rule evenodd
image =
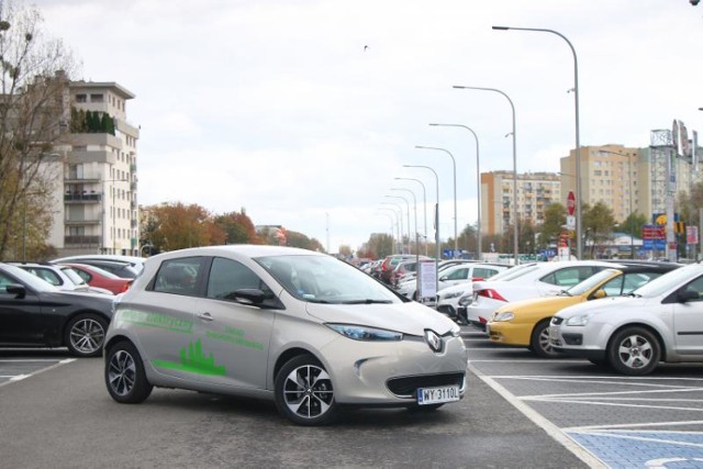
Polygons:
<instances>
[{"instance_id":1,"label":"black car parked at the left edge, beside the silver hatchback's rear","mask_svg":"<svg viewBox=\"0 0 703 469\"><path fill-rule=\"evenodd\" d=\"M19 267L0 264L0 346L68 347L102 353L114 297L62 291Z\"/></svg>"}]
</instances>

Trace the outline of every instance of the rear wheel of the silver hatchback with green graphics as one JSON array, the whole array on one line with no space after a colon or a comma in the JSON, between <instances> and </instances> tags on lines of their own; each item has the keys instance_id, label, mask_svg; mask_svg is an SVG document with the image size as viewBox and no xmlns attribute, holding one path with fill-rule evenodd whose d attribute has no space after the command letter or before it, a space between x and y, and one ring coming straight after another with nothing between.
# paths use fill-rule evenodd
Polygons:
<instances>
[{"instance_id":1,"label":"rear wheel of the silver hatchback with green graphics","mask_svg":"<svg viewBox=\"0 0 703 469\"><path fill-rule=\"evenodd\" d=\"M140 353L126 340L116 343L108 350L104 377L110 395L122 404L144 402L154 389L146 379Z\"/></svg>"}]
</instances>

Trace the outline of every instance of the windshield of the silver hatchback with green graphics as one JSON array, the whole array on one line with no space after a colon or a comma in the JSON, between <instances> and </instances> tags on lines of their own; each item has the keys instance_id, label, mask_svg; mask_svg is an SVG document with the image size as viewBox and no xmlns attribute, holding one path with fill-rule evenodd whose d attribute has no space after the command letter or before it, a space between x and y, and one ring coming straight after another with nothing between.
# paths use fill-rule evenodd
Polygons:
<instances>
[{"instance_id":1,"label":"windshield of the silver hatchback with green graphics","mask_svg":"<svg viewBox=\"0 0 703 469\"><path fill-rule=\"evenodd\" d=\"M402 302L371 277L334 257L294 255L255 260L302 301L336 304Z\"/></svg>"}]
</instances>

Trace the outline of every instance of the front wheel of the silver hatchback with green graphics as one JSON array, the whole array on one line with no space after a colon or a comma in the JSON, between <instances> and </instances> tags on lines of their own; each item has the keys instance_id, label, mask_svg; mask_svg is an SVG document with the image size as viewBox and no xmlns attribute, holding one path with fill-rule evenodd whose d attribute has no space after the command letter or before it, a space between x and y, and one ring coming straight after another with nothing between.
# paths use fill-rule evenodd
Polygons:
<instances>
[{"instance_id":1,"label":"front wheel of the silver hatchback with green graphics","mask_svg":"<svg viewBox=\"0 0 703 469\"><path fill-rule=\"evenodd\" d=\"M338 413L332 379L312 355L299 355L281 367L275 394L278 411L298 425L324 425Z\"/></svg>"}]
</instances>

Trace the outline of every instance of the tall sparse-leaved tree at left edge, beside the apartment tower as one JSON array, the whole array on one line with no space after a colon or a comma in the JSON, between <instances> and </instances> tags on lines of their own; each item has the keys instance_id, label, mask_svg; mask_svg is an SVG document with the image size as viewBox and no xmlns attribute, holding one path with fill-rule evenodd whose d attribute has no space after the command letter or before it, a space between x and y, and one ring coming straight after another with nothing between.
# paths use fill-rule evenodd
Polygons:
<instances>
[{"instance_id":1,"label":"tall sparse-leaved tree at left edge, beside the apartment tower","mask_svg":"<svg viewBox=\"0 0 703 469\"><path fill-rule=\"evenodd\" d=\"M30 233L45 239L51 230L53 172L43 165L68 129L66 101L70 54L44 40L35 8L0 0L0 255L25 245ZM66 70L66 72L57 72ZM23 216L22 213L32 216ZM37 249L43 242L36 243ZM44 246L46 247L46 246ZM15 249L16 250L16 249Z\"/></svg>"}]
</instances>

